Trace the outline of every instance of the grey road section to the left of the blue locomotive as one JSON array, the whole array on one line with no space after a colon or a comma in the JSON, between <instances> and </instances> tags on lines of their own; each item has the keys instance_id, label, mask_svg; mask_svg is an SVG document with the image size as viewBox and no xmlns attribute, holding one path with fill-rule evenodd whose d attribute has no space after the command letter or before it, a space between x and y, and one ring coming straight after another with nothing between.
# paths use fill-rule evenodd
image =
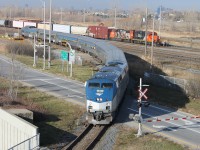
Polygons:
<instances>
[{"instance_id":1,"label":"grey road section to the left of the blue locomotive","mask_svg":"<svg viewBox=\"0 0 200 150\"><path fill-rule=\"evenodd\" d=\"M9 77L11 75L10 59L0 55L0 75ZM84 105L84 84L78 81L64 79L56 75L44 73L36 69L27 68L25 65L15 62L14 75L18 76L23 83L51 93L57 97L64 98L74 103Z\"/></svg>"}]
</instances>

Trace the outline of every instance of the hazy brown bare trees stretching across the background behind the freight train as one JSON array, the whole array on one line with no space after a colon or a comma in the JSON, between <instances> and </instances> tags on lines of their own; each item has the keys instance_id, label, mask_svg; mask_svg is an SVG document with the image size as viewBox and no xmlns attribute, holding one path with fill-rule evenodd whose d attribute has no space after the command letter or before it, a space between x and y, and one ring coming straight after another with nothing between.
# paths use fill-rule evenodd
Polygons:
<instances>
[{"instance_id":1,"label":"hazy brown bare trees stretching across the background behind the freight train","mask_svg":"<svg viewBox=\"0 0 200 150\"><path fill-rule=\"evenodd\" d=\"M24 8L16 6L3 7L0 9L0 18L17 19L17 18L37 18L43 19L43 8L30 8L26 5ZM117 18L117 27L125 29L144 29L142 18L145 17L145 9L135 9L128 11L128 18ZM119 11L119 10L118 10ZM52 20L63 24L83 24L90 25L103 22L107 26L114 26L114 9L104 10L111 17L103 18L94 15L95 10L89 9L85 13L83 10L75 9L52 9ZM121 11L122 12L122 11ZM152 12L151 12L152 14ZM46 18L49 18L49 8L46 8ZM152 15L148 17L148 28L152 28ZM159 15L157 19L159 18ZM48 19L47 19L48 20ZM162 12L163 31L179 31L179 32L198 32L200 31L199 22L200 12L197 11L168 11ZM158 30L159 20L155 22L155 29Z\"/></svg>"}]
</instances>

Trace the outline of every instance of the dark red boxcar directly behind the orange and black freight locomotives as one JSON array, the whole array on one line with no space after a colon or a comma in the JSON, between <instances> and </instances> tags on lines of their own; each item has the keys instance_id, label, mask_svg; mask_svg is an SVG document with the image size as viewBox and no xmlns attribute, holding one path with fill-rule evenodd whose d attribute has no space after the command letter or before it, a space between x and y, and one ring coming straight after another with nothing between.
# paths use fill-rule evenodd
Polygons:
<instances>
[{"instance_id":1,"label":"dark red boxcar directly behind the orange and black freight locomotives","mask_svg":"<svg viewBox=\"0 0 200 150\"><path fill-rule=\"evenodd\" d=\"M108 39L108 27L89 26L87 35L97 39Z\"/></svg>"}]
</instances>

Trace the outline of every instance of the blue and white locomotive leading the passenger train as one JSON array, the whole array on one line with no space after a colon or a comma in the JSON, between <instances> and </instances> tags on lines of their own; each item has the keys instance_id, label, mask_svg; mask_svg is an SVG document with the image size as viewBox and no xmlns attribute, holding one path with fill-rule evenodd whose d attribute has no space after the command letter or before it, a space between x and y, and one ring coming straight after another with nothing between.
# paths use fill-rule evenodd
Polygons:
<instances>
[{"instance_id":1,"label":"blue and white locomotive leading the passenger train","mask_svg":"<svg viewBox=\"0 0 200 150\"><path fill-rule=\"evenodd\" d=\"M86 82L86 120L89 124L110 124L128 85L126 62L112 61Z\"/></svg>"}]
</instances>

